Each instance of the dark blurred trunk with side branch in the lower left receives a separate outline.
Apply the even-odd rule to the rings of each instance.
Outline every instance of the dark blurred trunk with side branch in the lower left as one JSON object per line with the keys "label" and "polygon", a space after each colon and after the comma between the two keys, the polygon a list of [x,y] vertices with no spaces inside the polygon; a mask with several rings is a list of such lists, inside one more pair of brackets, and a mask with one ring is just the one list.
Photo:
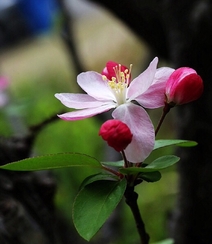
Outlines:
{"label": "dark blurred trunk with side branch in the lower left", "polygon": [[[37,133],[56,119],[31,127],[23,137],[0,137],[0,165],[30,157]],[[55,191],[49,171],[0,170],[0,243],[85,243],[55,209]]]}

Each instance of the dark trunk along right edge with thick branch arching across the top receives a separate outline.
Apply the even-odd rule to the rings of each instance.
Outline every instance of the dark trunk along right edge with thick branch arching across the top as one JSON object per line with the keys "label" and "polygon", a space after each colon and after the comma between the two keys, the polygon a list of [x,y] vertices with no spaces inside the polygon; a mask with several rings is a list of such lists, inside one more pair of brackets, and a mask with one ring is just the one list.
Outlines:
{"label": "dark trunk along right edge with thick branch arching across the top", "polygon": [[178,135],[199,145],[179,154],[179,197],[173,237],[177,244],[212,243],[212,2],[207,0],[93,0],[176,68],[189,66],[204,80],[202,98],[179,106]]}

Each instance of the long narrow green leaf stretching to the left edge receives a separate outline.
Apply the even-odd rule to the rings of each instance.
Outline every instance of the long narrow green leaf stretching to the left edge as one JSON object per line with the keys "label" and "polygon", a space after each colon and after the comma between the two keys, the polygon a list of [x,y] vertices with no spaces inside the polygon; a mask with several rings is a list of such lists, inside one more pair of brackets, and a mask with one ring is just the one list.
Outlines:
{"label": "long narrow green leaf stretching to the left edge", "polygon": [[2,165],[0,166],[0,169],[34,171],[82,166],[102,167],[101,163],[97,159],[85,154],[58,153],[23,159],[17,162]]}

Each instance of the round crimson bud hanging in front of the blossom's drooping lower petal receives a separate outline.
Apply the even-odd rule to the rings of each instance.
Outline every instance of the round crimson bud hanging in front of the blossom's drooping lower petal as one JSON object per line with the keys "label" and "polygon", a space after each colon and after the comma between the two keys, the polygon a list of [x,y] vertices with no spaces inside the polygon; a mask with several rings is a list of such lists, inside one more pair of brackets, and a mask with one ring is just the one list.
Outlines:
{"label": "round crimson bud hanging in front of the blossom's drooping lower petal", "polygon": [[99,135],[118,152],[124,150],[133,137],[129,127],[120,120],[115,119],[107,120],[102,124]]}

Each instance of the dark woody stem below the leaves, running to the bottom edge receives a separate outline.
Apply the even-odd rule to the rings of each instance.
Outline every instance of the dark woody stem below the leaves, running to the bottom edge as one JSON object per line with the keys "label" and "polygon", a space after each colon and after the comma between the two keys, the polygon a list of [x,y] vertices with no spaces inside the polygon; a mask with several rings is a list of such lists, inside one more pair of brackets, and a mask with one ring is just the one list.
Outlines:
{"label": "dark woody stem below the leaves, running to the bottom edge", "polygon": [[136,223],[136,227],[140,236],[140,243],[141,244],[148,244],[149,243],[149,235],[148,233],[146,233],[145,230],[145,225],[144,222],[142,220],[139,208],[138,208],[138,204],[137,204],[137,199],[138,199],[138,194],[134,191],[134,186],[127,186],[126,191],[125,191],[125,201],[127,203],[127,205],[130,207],[134,219],[135,219],[135,223]]}

